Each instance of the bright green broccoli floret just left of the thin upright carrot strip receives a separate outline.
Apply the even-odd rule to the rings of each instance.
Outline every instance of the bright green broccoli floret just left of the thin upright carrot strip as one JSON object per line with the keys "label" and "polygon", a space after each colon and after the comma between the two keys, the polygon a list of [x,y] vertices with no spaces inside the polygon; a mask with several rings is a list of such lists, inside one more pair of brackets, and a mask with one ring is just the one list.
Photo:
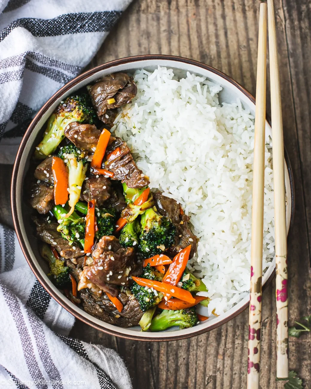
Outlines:
{"label": "bright green broccoli floret just left of the thin upright carrot strip", "polygon": [[80,217],[76,212],[66,218],[65,215],[68,211],[68,206],[62,207],[61,205],[54,205],[51,209],[53,215],[58,220],[57,231],[61,233],[61,236],[69,242],[80,242],[84,245],[85,225],[84,217]]}

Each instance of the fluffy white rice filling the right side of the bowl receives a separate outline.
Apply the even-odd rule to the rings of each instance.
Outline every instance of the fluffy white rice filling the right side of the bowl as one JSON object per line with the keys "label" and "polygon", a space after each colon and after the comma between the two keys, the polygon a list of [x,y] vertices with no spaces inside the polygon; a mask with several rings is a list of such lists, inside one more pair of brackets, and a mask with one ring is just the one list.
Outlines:
{"label": "fluffy white rice filling the right side of the bowl", "polygon": [[[190,216],[200,240],[189,265],[208,288],[209,314],[214,308],[222,314],[249,291],[254,117],[239,101],[220,106],[222,87],[189,72],[178,79],[159,67],[134,78],[137,96],[117,117],[115,133],[128,142],[150,187]],[[270,151],[267,137],[264,271],[274,258]]]}

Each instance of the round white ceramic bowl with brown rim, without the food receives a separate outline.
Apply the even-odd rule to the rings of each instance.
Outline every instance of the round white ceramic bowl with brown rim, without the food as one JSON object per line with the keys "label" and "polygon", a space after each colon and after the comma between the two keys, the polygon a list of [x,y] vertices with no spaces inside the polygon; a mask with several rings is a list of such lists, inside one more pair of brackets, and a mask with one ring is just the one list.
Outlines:
{"label": "round white ceramic bowl with brown rim, without the food", "polygon": [[[218,317],[210,317],[210,319],[207,321],[200,322],[192,328],[182,330],[178,329],[178,327],[174,327],[160,333],[141,332],[139,327],[121,328],[96,319],[69,301],[47,277],[47,264],[45,263],[44,259],[40,257],[38,252],[38,241],[37,238],[35,238],[34,227],[32,226],[30,220],[32,210],[24,203],[23,200],[23,182],[30,165],[31,155],[34,152],[35,146],[38,144],[38,142],[40,142],[40,139],[42,139],[44,124],[61,100],[64,100],[66,96],[72,94],[81,87],[95,82],[104,75],[114,72],[133,73],[136,69],[140,68],[154,70],[158,65],[173,68],[178,75],[185,75],[185,73],[189,71],[197,75],[207,77],[211,81],[214,81],[223,87],[222,91],[219,93],[220,103],[236,102],[237,98],[239,98],[245,108],[250,109],[253,114],[255,112],[255,98],[248,91],[246,91],[236,81],[232,80],[229,76],[208,65],[204,65],[203,63],[186,58],[164,55],[135,56],[105,63],[91,70],[88,70],[87,72],[68,82],[68,84],[59,89],[59,91],[56,92],[39,110],[28,127],[17,152],[13,170],[11,194],[13,219],[19,243],[21,244],[21,248],[29,263],[29,266],[47,292],[51,294],[51,296],[56,301],[58,301],[59,304],[66,308],[66,310],[72,313],[75,317],[93,326],[94,328],[99,329],[100,331],[110,333],[111,335],[122,336],[124,338],[148,341],[176,340],[180,338],[187,338],[216,328],[231,320],[233,317],[242,312],[246,307],[248,307],[248,298],[240,301],[234,307],[225,312],[225,314],[222,314]],[[271,134],[271,126],[268,121],[266,121],[266,132]],[[286,219],[288,231],[294,202],[292,198],[292,175],[287,160],[285,161],[285,164],[285,185],[287,196]],[[269,280],[272,279],[273,274],[274,269],[271,267],[264,274],[262,284],[267,284]],[[204,312],[204,309],[207,308],[200,307],[200,312],[202,314],[207,313]]]}

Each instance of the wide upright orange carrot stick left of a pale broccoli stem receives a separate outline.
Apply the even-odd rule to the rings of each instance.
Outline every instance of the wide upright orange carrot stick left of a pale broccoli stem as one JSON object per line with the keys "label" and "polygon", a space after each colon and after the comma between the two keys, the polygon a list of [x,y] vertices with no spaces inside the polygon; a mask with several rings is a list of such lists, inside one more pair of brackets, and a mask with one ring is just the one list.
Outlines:
{"label": "wide upright orange carrot stick left of a pale broccoli stem", "polygon": [[52,158],[52,172],[54,177],[55,205],[65,204],[68,201],[68,170],[63,159]]}

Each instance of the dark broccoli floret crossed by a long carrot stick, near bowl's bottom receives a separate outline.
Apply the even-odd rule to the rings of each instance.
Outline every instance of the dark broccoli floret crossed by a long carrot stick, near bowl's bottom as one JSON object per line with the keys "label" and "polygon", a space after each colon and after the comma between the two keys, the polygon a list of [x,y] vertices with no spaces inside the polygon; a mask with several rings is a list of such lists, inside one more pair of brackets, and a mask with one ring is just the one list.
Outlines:
{"label": "dark broccoli floret crossed by a long carrot stick, near bowl's bottom", "polygon": [[[143,274],[140,276],[149,280],[161,281],[163,274],[154,270],[149,264],[144,268]],[[157,291],[152,291],[149,288],[138,285],[136,282],[131,286],[131,291],[136,297],[140,309],[146,312],[149,308],[159,304],[163,298],[163,294]]]}

